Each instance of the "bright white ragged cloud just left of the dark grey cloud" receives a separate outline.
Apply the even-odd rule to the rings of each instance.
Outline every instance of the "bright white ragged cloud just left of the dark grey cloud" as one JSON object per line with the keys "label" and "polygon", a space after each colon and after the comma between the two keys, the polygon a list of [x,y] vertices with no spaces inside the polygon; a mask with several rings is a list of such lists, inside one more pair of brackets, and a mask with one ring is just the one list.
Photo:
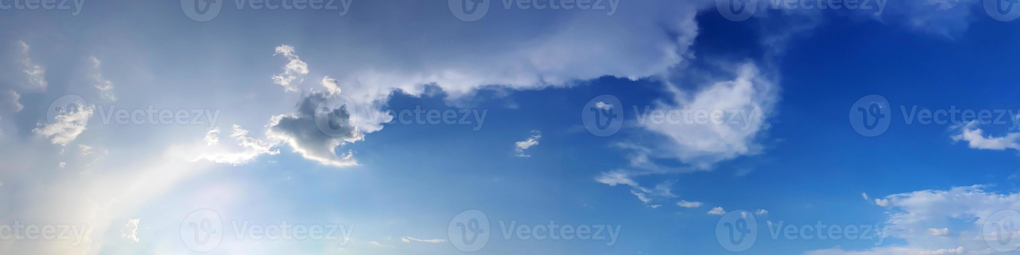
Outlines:
{"label": "bright white ragged cloud just left of the dark grey cloud", "polygon": [[241,125],[235,124],[233,130],[231,138],[237,141],[238,146],[241,146],[241,151],[217,146],[219,141],[219,129],[217,128],[207,132],[203,139],[208,148],[195,146],[196,148],[187,149],[198,154],[197,156],[191,156],[191,161],[208,160],[216,163],[239,165],[247,163],[263,154],[276,155],[279,153],[279,150],[273,150],[273,147],[277,145],[276,143],[251,138],[248,136],[248,131]]}

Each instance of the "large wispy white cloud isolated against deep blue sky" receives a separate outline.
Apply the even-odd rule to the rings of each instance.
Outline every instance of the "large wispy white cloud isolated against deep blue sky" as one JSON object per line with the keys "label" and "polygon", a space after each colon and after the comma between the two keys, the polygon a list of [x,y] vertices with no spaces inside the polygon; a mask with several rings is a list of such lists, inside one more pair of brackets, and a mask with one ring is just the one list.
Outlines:
{"label": "large wispy white cloud isolated against deep blue sky", "polygon": [[[671,102],[656,103],[638,119],[639,126],[663,139],[630,146],[631,162],[654,167],[652,160],[670,158],[709,168],[722,160],[759,153],[758,140],[769,128],[766,120],[774,114],[778,87],[754,63],[733,66],[733,80],[695,91],[671,87]],[[718,117],[712,120],[704,116]]]}

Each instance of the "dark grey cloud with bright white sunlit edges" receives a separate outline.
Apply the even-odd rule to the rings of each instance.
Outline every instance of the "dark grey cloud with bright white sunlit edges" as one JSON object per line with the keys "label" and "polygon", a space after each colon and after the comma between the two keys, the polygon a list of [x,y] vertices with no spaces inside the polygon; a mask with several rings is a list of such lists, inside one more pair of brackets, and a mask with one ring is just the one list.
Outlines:
{"label": "dark grey cloud with bright white sunlit edges", "polygon": [[294,152],[324,165],[357,165],[353,152],[337,155],[337,147],[364,140],[366,133],[377,129],[363,126],[378,123],[359,121],[359,115],[364,113],[353,110],[356,107],[353,104],[336,100],[324,93],[312,93],[298,104],[297,112],[272,116],[266,137],[282,141]]}

